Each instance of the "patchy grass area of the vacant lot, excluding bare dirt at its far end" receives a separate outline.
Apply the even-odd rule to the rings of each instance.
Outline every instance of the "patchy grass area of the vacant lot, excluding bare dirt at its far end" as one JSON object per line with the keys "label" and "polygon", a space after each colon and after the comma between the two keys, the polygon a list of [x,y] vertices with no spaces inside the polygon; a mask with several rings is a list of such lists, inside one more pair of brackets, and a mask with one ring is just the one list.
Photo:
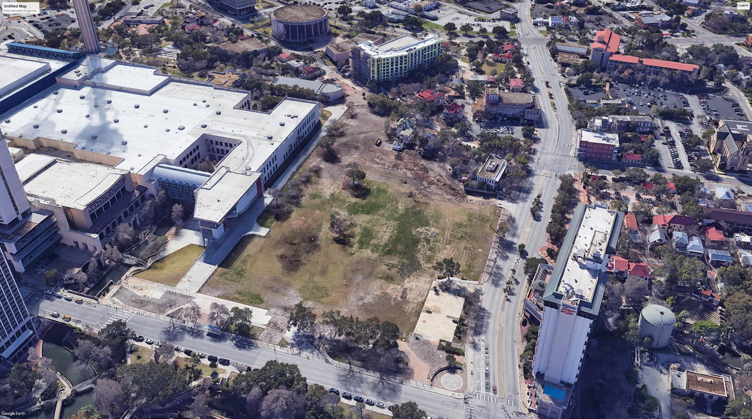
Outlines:
{"label": "patchy grass area of the vacant lot, excluding bare dirt at its far end", "polygon": [[[236,249],[202,292],[250,304],[261,297],[268,308],[287,308],[302,298],[320,310],[375,315],[411,331],[436,275],[431,265],[452,257],[462,264],[462,275],[478,279],[498,213],[480,203],[429,203],[402,185],[367,184],[371,194],[359,199],[341,190],[341,179],[317,179],[289,219]],[[356,223],[349,245],[332,240],[332,212]],[[317,237],[316,243],[302,243],[301,234]],[[302,246],[305,263],[290,267],[288,255]]]}

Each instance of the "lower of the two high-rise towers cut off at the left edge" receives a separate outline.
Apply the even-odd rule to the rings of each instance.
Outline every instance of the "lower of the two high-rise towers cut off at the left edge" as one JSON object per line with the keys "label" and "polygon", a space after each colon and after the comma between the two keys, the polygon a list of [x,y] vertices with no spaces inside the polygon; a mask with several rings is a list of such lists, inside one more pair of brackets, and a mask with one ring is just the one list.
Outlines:
{"label": "lower of the two high-rise towers cut off at the left edge", "polygon": [[4,258],[0,258],[0,370],[26,357],[37,340],[32,316]]}

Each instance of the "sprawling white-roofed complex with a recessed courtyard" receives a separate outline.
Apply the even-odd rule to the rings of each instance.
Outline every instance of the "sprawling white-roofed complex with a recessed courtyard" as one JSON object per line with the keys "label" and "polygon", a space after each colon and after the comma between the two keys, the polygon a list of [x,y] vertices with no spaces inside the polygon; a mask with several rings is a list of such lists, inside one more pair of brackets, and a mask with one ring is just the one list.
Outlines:
{"label": "sprawling white-roofed complex with a recessed courtyard", "polygon": [[[49,57],[56,50],[16,50],[0,50],[0,62],[61,60]],[[59,71],[49,85],[42,83],[49,74],[17,83],[25,100],[0,116],[0,129],[12,146],[35,151],[17,163],[26,192],[33,205],[56,213],[71,246],[101,250],[118,224],[138,222],[139,207],[159,188],[196,203],[208,245],[319,126],[315,101],[285,98],[259,112],[240,89],[96,56],[69,59],[73,65],[53,66]],[[214,173],[194,170],[206,159],[217,161]],[[217,191],[224,191],[221,203]]]}

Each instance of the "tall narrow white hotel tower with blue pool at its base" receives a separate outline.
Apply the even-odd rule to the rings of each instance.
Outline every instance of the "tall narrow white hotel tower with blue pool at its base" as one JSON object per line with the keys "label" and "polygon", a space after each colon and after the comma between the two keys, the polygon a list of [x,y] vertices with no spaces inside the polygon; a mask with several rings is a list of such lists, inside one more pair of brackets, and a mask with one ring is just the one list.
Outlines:
{"label": "tall narrow white hotel tower with blue pool at its base", "polygon": [[580,203],[575,209],[543,295],[544,315],[532,365],[541,417],[560,417],[569,405],[622,221],[622,213],[600,206]]}

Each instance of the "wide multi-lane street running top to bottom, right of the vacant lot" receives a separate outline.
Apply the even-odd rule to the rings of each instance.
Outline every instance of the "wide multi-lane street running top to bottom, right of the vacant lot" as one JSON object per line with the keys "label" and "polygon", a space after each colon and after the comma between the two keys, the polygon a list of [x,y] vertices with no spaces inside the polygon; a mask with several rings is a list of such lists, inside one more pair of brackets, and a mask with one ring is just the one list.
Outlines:
{"label": "wide multi-lane street running top to bottom, right of the vacant lot", "polygon": [[[476,417],[499,417],[502,405],[502,417],[527,413],[522,397],[525,395],[520,387],[517,351],[520,342],[520,305],[525,288],[524,261],[517,258],[517,244],[525,244],[529,257],[535,257],[535,252],[544,246],[545,228],[558,186],[557,178],[571,171],[577,163],[573,157],[574,132],[568,101],[559,85],[556,64],[548,53],[547,38],[532,26],[529,7],[530,0],[520,3],[521,23],[517,25],[517,32],[526,64],[535,77],[533,90],[541,108],[541,122],[538,124],[540,140],[526,191],[519,198],[508,197],[506,206],[512,214],[511,231],[507,234],[507,245],[496,261],[484,294],[482,307],[487,319],[483,322],[484,327],[476,330],[474,348],[476,393],[473,404]],[[550,88],[546,87],[546,82]],[[541,194],[544,205],[541,213],[533,219],[530,207],[537,194]],[[511,295],[505,299],[503,288],[513,269],[516,270],[517,282]],[[492,386],[498,388],[498,399],[491,398],[485,391],[485,348],[489,349],[490,381]]]}

